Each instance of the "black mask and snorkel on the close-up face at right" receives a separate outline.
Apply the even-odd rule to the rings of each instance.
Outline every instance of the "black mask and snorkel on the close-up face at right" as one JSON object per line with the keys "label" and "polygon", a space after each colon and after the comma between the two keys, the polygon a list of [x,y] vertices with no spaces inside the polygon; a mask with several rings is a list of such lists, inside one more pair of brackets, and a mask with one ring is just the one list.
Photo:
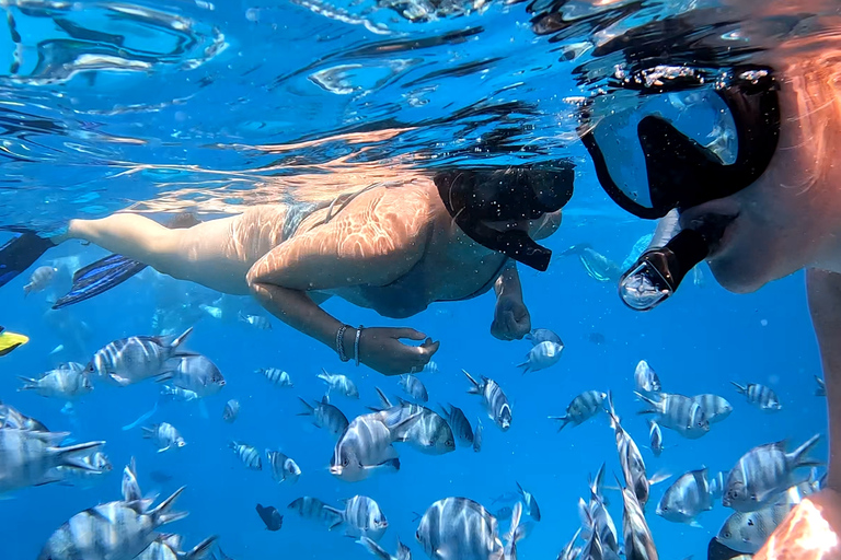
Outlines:
{"label": "black mask and snorkel on the close-up face at right", "polygon": [[[700,88],[703,81],[694,85]],[[713,143],[703,145],[660,114],[648,114],[636,122],[645,161],[642,180],[635,177],[638,167],[611,165],[602,152],[600,143],[625,147],[617,139],[607,143],[612,132],[610,117],[581,135],[599,182],[614,202],[640,218],[663,218],[673,209],[682,212],[731,196],[765,172],[780,139],[780,102],[773,72],[767,67],[737,67],[716,85],[714,93],[731,118],[726,128],[737,142],[731,163],[718,155],[726,149],[718,145],[716,150]],[[686,81],[677,86],[686,88]],[[673,90],[659,82],[648,91],[660,94]],[[701,223],[682,230],[664,247],[645,252],[620,279],[622,301],[633,310],[648,311],[668,299],[683,277],[706,258],[726,225],[721,221]]]}

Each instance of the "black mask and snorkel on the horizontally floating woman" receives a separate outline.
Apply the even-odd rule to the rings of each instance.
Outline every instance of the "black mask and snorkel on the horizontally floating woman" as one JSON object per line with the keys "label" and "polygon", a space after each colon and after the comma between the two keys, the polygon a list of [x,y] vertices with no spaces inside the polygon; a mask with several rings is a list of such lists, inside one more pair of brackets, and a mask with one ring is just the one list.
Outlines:
{"label": "black mask and snorkel on the horizontally floating woman", "polygon": [[538,220],[561,210],[573,195],[574,165],[438,172],[435,184],[443,206],[471,240],[540,271],[552,252],[519,229],[498,231],[486,222]]}

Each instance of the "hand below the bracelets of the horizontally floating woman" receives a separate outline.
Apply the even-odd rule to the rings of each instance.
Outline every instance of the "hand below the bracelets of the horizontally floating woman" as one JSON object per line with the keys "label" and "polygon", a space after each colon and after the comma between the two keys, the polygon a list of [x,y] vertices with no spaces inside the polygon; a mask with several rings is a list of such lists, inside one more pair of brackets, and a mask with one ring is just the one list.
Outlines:
{"label": "hand below the bracelets of the horizontally floating woman", "polygon": [[[404,345],[401,338],[423,340],[420,346]],[[440,342],[433,342],[413,328],[366,328],[359,337],[359,360],[383,375],[419,372],[438,351]]]}

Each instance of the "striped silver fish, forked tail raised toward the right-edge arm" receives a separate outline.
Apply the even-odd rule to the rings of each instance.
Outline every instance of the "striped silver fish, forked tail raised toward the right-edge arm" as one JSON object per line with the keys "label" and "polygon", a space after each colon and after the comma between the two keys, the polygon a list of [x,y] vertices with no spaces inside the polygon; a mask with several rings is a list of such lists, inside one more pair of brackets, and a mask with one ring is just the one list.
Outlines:
{"label": "striped silver fish, forked tail raised toward the right-edge arm", "polygon": [[800,481],[796,469],[820,465],[806,456],[819,439],[817,434],[811,436],[792,453],[785,452],[785,442],[750,450],[727,476],[722,504],[737,512],[752,512],[774,503]]}

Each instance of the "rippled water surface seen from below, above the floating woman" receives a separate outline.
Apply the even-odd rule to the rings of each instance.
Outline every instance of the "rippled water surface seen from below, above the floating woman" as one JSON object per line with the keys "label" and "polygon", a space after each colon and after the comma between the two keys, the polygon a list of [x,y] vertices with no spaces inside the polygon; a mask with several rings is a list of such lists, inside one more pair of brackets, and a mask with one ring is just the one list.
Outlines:
{"label": "rippled water surface seen from below, above the floating woman", "polygon": [[0,225],[229,212],[383,162],[580,158],[594,95],[834,28],[834,2],[736,4],[3,1]]}

